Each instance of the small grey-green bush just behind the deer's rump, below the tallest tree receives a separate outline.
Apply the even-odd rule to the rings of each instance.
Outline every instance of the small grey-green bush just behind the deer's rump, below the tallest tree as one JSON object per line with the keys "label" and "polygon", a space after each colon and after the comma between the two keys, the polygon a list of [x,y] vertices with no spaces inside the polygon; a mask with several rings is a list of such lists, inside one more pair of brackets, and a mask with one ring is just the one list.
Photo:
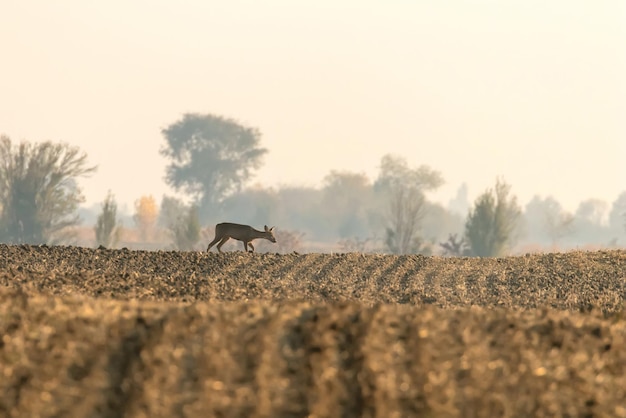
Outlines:
{"label": "small grey-green bush just behind the deer's rump, below the tallest tree", "polygon": [[160,222],[168,229],[174,247],[180,251],[193,250],[201,237],[198,208],[185,205],[176,198],[163,196]]}

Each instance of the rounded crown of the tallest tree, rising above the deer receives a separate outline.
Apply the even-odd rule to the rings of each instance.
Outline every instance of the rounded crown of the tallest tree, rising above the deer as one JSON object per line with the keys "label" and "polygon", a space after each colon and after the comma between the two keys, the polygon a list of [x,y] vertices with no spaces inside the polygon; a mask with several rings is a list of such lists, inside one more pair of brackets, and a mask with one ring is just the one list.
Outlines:
{"label": "rounded crown of the tallest tree, rising above the deer", "polygon": [[267,152],[261,133],[222,116],[187,113],[162,131],[170,159],[165,181],[199,202],[203,215],[240,190]]}

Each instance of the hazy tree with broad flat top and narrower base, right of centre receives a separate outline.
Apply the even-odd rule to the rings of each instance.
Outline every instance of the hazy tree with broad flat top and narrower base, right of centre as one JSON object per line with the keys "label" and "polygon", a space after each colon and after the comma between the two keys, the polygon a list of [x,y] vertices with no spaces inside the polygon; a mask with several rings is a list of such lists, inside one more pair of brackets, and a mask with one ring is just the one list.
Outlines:
{"label": "hazy tree with broad flat top and narrower base, right of centre", "polygon": [[388,202],[385,239],[387,250],[393,254],[429,253],[430,245],[420,237],[420,222],[424,216],[424,193],[444,183],[438,171],[428,166],[409,168],[405,159],[385,155],[374,189]]}

